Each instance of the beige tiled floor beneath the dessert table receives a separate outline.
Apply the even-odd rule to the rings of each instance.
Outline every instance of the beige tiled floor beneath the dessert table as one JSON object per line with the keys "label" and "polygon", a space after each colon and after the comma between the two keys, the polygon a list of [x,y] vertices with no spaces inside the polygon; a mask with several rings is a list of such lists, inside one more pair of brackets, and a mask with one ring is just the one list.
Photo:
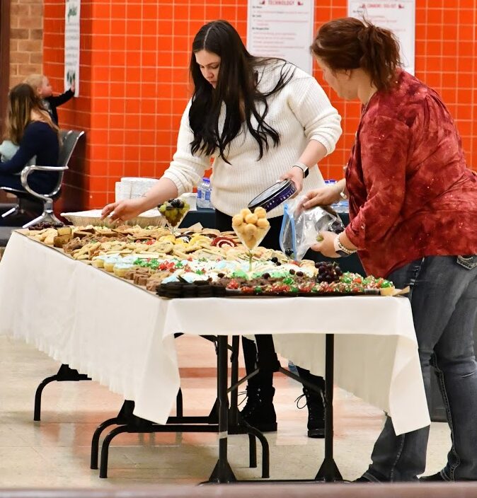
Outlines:
{"label": "beige tiled floor beneath the dessert table", "polygon": [[[178,350],[184,410],[207,415],[214,401],[214,350],[197,337],[181,337]],[[45,388],[42,421],[33,422],[38,383],[59,364],[23,342],[0,337],[0,487],[110,487],[111,485],[198,483],[217,460],[216,434],[124,434],[110,450],[109,478],[89,469],[93,430],[117,415],[120,396],[95,382],[52,383]],[[314,477],[323,440],[306,437],[306,409],[298,410],[299,386],[275,378],[279,430],[269,434],[272,478]],[[345,479],[369,463],[383,414],[358,398],[335,390],[335,460]],[[229,461],[237,477],[256,478],[250,469],[248,438],[230,436]],[[432,424],[427,472],[439,470],[449,448],[447,424]],[[260,453],[258,456],[260,467]]]}

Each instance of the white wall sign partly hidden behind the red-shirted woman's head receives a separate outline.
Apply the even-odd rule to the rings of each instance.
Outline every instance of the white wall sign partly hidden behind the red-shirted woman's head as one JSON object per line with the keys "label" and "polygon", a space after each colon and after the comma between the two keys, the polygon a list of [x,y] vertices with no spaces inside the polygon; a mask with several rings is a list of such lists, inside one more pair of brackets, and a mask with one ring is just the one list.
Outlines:
{"label": "white wall sign partly hidden behind the red-shirted woman's head", "polygon": [[357,1],[348,0],[347,15],[365,19],[386,28],[398,37],[401,62],[410,74],[415,70],[415,0]]}

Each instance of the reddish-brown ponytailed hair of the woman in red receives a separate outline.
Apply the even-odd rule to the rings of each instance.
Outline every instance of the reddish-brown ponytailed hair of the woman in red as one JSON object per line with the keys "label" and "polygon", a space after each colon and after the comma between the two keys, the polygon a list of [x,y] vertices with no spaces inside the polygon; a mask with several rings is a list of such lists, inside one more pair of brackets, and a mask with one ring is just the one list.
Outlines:
{"label": "reddish-brown ponytailed hair of the woman in red", "polygon": [[392,88],[401,66],[399,43],[392,31],[352,17],[323,24],[310,48],[335,71],[364,69],[378,90]]}

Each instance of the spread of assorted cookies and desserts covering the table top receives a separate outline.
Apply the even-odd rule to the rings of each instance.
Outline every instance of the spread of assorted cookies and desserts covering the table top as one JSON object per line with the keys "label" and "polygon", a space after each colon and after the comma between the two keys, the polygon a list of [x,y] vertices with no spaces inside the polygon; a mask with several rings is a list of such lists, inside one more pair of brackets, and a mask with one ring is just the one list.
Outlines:
{"label": "spread of assorted cookies and desserts covering the table top", "polygon": [[[174,204],[168,226],[64,226],[20,230],[74,260],[164,298],[396,296],[406,293],[377,277],[343,272],[336,262],[295,261],[260,245],[265,211],[234,216],[234,231],[177,228],[185,204]],[[167,206],[164,209],[167,213]],[[161,216],[163,218],[163,216]],[[176,223],[177,222],[177,223]]]}

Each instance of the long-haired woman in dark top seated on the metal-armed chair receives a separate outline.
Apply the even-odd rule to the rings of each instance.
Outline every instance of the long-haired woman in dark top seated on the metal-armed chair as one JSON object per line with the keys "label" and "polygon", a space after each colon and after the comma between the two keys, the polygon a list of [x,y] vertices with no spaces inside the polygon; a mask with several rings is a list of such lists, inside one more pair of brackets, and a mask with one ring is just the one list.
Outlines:
{"label": "long-haired woman in dark top seated on the metal-armed chair", "polygon": [[[5,139],[18,145],[18,151],[0,163],[1,187],[24,190],[19,173],[35,156],[41,166],[57,166],[59,129],[27,83],[14,86],[8,94]],[[57,173],[34,171],[28,176],[28,185],[40,194],[51,192],[56,183]]]}

